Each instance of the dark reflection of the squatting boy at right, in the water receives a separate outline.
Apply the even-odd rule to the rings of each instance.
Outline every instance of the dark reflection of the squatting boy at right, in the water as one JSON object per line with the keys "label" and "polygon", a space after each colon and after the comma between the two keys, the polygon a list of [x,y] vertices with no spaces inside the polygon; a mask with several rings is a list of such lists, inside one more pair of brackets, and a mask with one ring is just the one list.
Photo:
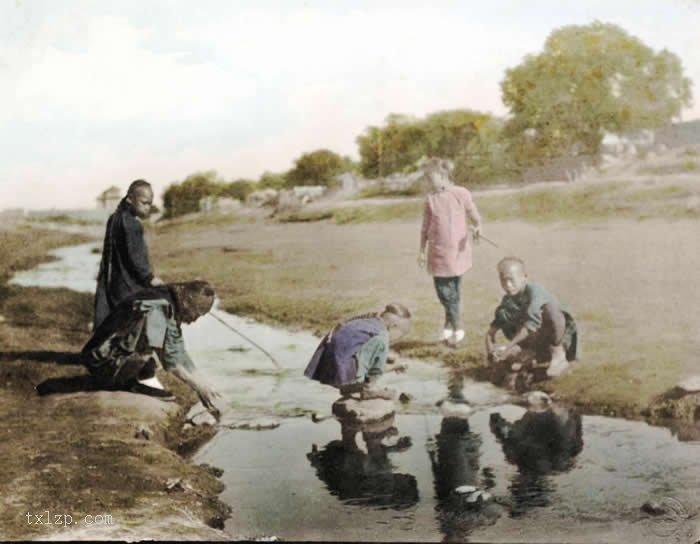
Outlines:
{"label": "dark reflection of the squatting boy at right, in the water", "polygon": [[518,467],[511,482],[514,517],[550,504],[554,485],[549,474],[573,468],[583,448],[581,416],[555,406],[528,410],[515,423],[491,414],[491,432],[501,442],[509,463]]}

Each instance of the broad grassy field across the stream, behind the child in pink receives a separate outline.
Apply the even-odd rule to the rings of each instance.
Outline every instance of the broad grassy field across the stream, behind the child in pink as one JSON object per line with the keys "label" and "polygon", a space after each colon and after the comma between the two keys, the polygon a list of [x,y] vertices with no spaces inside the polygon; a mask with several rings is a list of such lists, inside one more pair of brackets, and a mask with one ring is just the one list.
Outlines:
{"label": "broad grassy field across the stream, behind the child in pink", "polygon": [[[698,221],[686,214],[684,200],[694,190],[682,183],[606,183],[567,185],[555,194],[477,194],[485,233],[500,248],[475,248],[464,281],[467,337],[458,350],[435,343],[442,312],[431,278],[416,265],[420,203],[336,210],[336,223],[158,232],[154,259],[168,279],[212,281],[234,313],[318,332],[388,301],[404,302],[415,322],[397,346],[402,353],[478,373],[483,334],[502,296],[495,264],[518,254],[581,331],[576,369],[544,387],[592,411],[637,414],[680,376],[698,371],[700,300],[685,287],[700,267]],[[372,219],[338,221],[342,213]]]}

